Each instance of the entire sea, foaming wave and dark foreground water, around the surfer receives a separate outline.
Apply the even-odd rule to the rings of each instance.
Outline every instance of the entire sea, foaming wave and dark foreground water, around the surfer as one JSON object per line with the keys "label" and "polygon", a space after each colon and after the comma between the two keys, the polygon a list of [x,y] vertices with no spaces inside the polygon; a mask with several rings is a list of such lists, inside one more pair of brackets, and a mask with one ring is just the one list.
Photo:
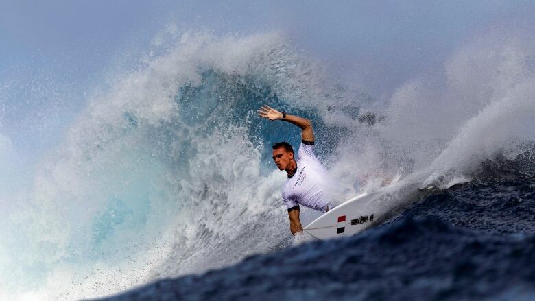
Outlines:
{"label": "entire sea, foaming wave and dark foreground water, around the surfer", "polygon": [[[385,96],[277,33],[185,34],[89,96],[3,191],[0,299],[533,300],[532,45],[471,40]],[[292,237],[270,157],[300,132],[263,104],[313,121],[336,203],[399,185],[389,218]]]}

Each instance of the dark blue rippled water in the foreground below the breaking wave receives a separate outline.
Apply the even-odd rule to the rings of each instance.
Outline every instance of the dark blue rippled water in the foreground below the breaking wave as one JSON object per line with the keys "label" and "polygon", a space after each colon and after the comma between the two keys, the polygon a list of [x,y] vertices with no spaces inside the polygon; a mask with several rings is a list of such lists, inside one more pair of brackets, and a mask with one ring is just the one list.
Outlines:
{"label": "dark blue rippled water in the foreground below the breaking wave", "polygon": [[105,300],[535,300],[534,153],[480,165],[354,237]]}

